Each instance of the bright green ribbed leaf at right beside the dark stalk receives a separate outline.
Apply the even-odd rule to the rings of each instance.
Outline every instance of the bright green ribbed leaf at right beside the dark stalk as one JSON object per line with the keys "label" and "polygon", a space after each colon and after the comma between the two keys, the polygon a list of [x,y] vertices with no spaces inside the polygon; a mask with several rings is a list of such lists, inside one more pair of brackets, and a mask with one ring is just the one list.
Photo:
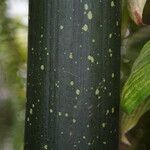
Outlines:
{"label": "bright green ribbed leaf at right beside the dark stalk", "polygon": [[131,113],[150,96],[150,41],[143,47],[124,85],[121,106]]}

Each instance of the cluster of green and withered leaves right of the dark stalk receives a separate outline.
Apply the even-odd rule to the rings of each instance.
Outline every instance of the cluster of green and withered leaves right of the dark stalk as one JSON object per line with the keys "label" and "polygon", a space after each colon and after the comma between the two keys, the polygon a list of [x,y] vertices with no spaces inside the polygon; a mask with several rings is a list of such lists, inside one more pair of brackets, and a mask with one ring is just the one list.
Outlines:
{"label": "cluster of green and withered leaves right of the dark stalk", "polygon": [[[137,150],[144,145],[145,150],[148,150],[149,142],[146,140],[148,137],[144,137],[144,135],[146,136],[149,130],[143,126],[150,122],[147,118],[148,115],[145,115],[149,114],[150,110],[150,42],[148,42],[150,40],[150,26],[142,26],[142,24],[149,23],[150,2],[123,0],[123,4],[121,141],[130,145],[126,149]],[[127,13],[125,15],[127,8],[130,15],[127,15]],[[135,15],[135,10],[138,15]],[[145,43],[147,44],[145,45]],[[142,119],[144,119],[144,122]],[[136,130],[136,132],[132,133],[133,130]],[[142,143],[139,141],[142,141]]]}

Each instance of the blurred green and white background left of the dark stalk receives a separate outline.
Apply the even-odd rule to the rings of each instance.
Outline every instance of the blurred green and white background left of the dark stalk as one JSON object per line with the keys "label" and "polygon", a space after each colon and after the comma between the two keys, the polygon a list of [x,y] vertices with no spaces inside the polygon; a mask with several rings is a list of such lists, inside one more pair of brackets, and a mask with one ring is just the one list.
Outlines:
{"label": "blurred green and white background left of the dark stalk", "polygon": [[21,150],[25,110],[27,1],[0,0],[0,150]]}

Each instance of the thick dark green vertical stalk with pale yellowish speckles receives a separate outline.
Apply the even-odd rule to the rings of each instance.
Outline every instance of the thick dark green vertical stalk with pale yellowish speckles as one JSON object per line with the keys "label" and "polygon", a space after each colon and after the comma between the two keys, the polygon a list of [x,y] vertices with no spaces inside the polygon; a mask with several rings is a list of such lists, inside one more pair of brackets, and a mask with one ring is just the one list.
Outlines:
{"label": "thick dark green vertical stalk with pale yellowish speckles", "polygon": [[25,150],[117,150],[119,0],[30,0]]}

